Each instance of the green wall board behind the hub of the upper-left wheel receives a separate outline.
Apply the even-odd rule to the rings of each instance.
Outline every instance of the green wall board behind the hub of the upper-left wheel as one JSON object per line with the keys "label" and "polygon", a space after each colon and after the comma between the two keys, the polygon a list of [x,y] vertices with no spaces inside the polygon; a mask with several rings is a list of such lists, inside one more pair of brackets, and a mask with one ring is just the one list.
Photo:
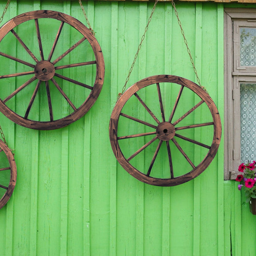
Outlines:
{"label": "green wall board behind the hub of the upper-left wheel", "polygon": [[[40,9],[47,10],[59,10],[63,12],[63,2],[49,2],[40,1]],[[29,5],[29,2],[28,2]],[[52,48],[55,33],[51,30],[47,30],[47,22],[52,23],[53,27],[58,30],[56,26],[56,20],[43,20],[38,19],[43,52],[46,57],[50,49]],[[48,23],[48,24],[49,24]],[[55,24],[55,25],[54,25]],[[35,38],[36,40],[37,38]],[[58,43],[61,42],[59,40]],[[68,42],[67,42],[68,44]],[[63,44],[57,44],[62,50]],[[36,48],[37,47],[37,48]],[[35,49],[38,50],[38,43],[35,44]],[[38,52],[37,52],[38,55]],[[44,85],[44,84],[43,84]],[[53,112],[59,114],[66,113],[63,102],[65,100],[58,98],[56,93],[52,92],[51,82],[49,83],[51,99],[53,103]],[[42,92],[45,93],[45,85],[42,87]],[[65,90],[65,89],[64,89]],[[44,94],[46,95],[46,94]],[[43,108],[43,104],[48,107],[47,98],[42,97],[39,101],[39,118],[49,118],[48,108]],[[55,104],[55,105],[54,105]],[[45,116],[44,116],[45,113]],[[54,115],[54,114],[53,114]],[[56,117],[56,116],[55,116]],[[49,119],[48,119],[49,120]],[[49,130],[39,132],[39,171],[38,171],[38,212],[37,212],[37,254],[38,255],[60,255],[60,252],[64,250],[66,244],[63,247],[63,240],[65,240],[65,233],[63,227],[65,223],[65,183],[66,183],[66,155],[63,154],[64,146],[66,142],[64,130]],[[62,144],[63,138],[63,144]],[[67,149],[65,149],[67,150]],[[65,176],[63,176],[65,175]],[[66,229],[66,227],[64,228]],[[62,235],[64,235],[62,237]],[[61,246],[62,244],[62,246]],[[64,248],[64,249],[63,249]]]}

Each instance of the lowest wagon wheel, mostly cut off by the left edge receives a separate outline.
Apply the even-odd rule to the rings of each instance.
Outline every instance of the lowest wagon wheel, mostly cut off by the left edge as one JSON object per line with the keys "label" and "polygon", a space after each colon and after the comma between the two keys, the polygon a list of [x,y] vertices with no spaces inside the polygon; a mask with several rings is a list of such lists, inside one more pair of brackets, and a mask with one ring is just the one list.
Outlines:
{"label": "lowest wagon wheel, mostly cut off by the left edge", "polygon": [[12,192],[14,191],[17,178],[17,168],[14,157],[11,150],[2,140],[0,140],[0,158],[0,195],[2,196],[3,194],[2,198],[0,199],[1,209],[10,199]]}

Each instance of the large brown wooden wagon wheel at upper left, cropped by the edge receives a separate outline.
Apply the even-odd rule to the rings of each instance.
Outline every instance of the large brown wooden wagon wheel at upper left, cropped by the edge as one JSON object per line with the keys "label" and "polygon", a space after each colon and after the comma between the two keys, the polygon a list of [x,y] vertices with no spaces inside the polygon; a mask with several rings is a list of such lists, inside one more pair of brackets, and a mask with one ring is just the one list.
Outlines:
{"label": "large brown wooden wagon wheel at upper left, cropped by the edge", "polygon": [[[47,55],[47,58],[45,59],[45,54],[43,52],[43,45],[41,40],[41,33],[39,30],[38,20],[40,18],[51,18],[55,20],[60,21],[59,29],[57,32],[57,35],[55,37],[52,49],[50,50],[49,55]],[[38,53],[40,53],[40,58],[36,58],[34,53],[31,52],[31,50],[26,46],[26,44],[22,41],[21,37],[18,35],[16,30],[16,26],[20,25],[23,22],[27,22],[29,20],[34,20],[34,27],[36,31],[36,35],[38,38]],[[68,24],[71,27],[75,28],[77,31],[81,33],[81,39],[76,42],[73,46],[71,46],[68,50],[66,50],[63,54],[61,54],[57,59],[52,60],[53,53],[55,50],[55,47],[57,46],[58,39],[60,37],[61,31],[63,26]],[[14,30],[15,28],[15,30]],[[47,28],[49,30],[50,27]],[[17,30],[16,30],[17,31]],[[101,48],[94,37],[94,35],[91,33],[91,31],[80,21],[76,20],[75,18],[63,14],[61,12],[57,11],[48,11],[48,10],[39,10],[39,11],[31,11],[27,12],[25,14],[21,14],[16,16],[15,18],[12,18],[10,21],[5,23],[0,28],[0,42],[2,39],[6,36],[6,34],[10,32],[12,33],[18,42],[22,45],[22,47],[27,51],[27,53],[31,57],[31,62],[26,62],[24,60],[21,60],[19,58],[13,57],[12,55],[0,52],[0,55],[9,58],[10,60],[14,60],[17,63],[22,63],[27,66],[27,71],[21,72],[21,73],[15,73],[15,74],[4,74],[0,76],[0,79],[3,79],[2,82],[6,81],[8,78],[16,77],[16,76],[25,76],[30,75],[30,79],[28,79],[25,83],[18,85],[17,89],[14,90],[9,96],[5,98],[1,98],[0,100],[0,111],[9,119],[11,119],[13,122],[20,124],[21,126],[32,128],[32,129],[39,129],[39,130],[51,130],[51,129],[57,129],[62,128],[64,126],[67,126],[70,123],[73,123],[74,121],[78,120],[84,114],[89,111],[91,106],[95,103],[98,95],[100,94],[100,91],[102,89],[103,85],[103,79],[104,79],[104,72],[105,72],[105,66],[104,66],[104,60]],[[15,39],[15,40],[16,40]],[[74,50],[76,47],[78,47],[82,42],[88,41],[90,44],[90,47],[93,50],[95,60],[90,59],[86,62],[82,63],[74,63],[74,64],[67,64],[67,65],[59,65],[59,61],[62,60],[67,54],[69,54],[72,50]],[[11,43],[11,42],[10,42]],[[82,48],[81,52],[85,51],[86,49]],[[66,69],[66,68],[74,68],[79,66],[85,66],[85,65],[96,65],[96,78],[94,85],[87,85],[83,82],[76,81],[74,79],[68,78],[66,76],[63,76],[59,74],[58,71]],[[70,100],[70,98],[66,95],[64,90],[61,88],[61,86],[56,81],[56,77],[58,79],[61,79],[62,81],[68,81],[71,85],[78,85],[84,88],[84,90],[89,90],[89,96],[85,98],[85,101],[80,106],[75,106],[74,103]],[[37,81],[37,82],[34,82]],[[51,81],[51,82],[50,82]],[[23,116],[20,114],[17,114],[15,110],[10,109],[6,103],[14,96],[17,96],[21,90],[23,90],[28,85],[31,85],[33,82],[34,89],[33,94],[27,95],[27,97],[31,100],[26,106],[26,110],[24,110]],[[59,91],[58,93],[62,95],[62,97],[65,98],[65,100],[68,102],[70,109],[72,113],[70,113],[68,116],[54,119],[53,115],[53,106],[52,106],[52,98],[49,90],[49,84],[55,86],[55,89]],[[39,87],[45,84],[45,97],[48,100],[48,108],[49,108],[49,117],[48,121],[40,121],[40,120],[30,120],[28,119],[28,115],[30,113],[32,104],[36,98],[36,95],[38,94]],[[54,89],[54,90],[55,90]],[[46,100],[46,101],[47,101]]]}

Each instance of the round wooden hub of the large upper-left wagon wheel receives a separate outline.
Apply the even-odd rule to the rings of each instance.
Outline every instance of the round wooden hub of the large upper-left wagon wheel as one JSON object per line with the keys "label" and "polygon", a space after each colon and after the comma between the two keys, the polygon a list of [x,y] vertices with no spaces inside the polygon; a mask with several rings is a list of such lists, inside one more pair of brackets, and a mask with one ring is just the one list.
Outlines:
{"label": "round wooden hub of the large upper-left wagon wheel", "polygon": [[34,68],[36,78],[41,81],[48,81],[53,78],[55,74],[54,65],[47,60],[41,60]]}

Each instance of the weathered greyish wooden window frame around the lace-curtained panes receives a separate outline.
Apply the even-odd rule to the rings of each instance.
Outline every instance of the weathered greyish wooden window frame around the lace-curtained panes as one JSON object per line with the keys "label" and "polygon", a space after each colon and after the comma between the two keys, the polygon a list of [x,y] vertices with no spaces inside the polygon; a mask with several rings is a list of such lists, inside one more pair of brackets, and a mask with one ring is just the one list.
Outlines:
{"label": "weathered greyish wooden window frame around the lace-curtained panes", "polygon": [[240,82],[256,83],[256,67],[240,66],[240,26],[256,27],[256,8],[224,9],[224,180],[234,180],[240,164]]}

